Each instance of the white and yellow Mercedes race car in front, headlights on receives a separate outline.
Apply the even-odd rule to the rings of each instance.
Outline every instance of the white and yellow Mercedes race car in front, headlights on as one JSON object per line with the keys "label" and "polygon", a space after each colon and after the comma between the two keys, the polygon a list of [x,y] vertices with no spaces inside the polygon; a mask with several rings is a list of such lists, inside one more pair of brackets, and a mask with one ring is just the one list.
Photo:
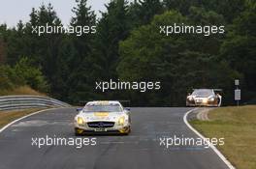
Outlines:
{"label": "white and yellow Mercedes race car in front, headlights on", "polygon": [[90,101],[75,117],[75,134],[120,133],[129,134],[131,117],[129,109],[119,101]]}

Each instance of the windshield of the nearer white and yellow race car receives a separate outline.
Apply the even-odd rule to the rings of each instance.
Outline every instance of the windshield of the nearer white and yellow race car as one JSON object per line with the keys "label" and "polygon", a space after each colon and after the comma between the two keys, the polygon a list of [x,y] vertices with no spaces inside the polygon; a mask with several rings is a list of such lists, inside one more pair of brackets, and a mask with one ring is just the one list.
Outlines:
{"label": "windshield of the nearer white and yellow race car", "polygon": [[86,105],[83,112],[121,112],[120,105]]}

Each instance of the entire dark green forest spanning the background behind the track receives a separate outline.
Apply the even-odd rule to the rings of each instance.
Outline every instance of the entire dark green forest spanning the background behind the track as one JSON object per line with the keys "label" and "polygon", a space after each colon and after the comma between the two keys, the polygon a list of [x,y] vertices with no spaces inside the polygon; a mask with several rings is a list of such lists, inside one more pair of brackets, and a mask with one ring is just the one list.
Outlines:
{"label": "entire dark green forest spanning the background behind the track", "polygon": [[[0,90],[29,85],[78,104],[129,99],[132,105],[182,106],[193,88],[220,88],[234,103],[256,103],[256,2],[253,0],[112,0],[101,17],[76,0],[70,25],[96,25],[96,34],[32,34],[36,25],[62,25],[52,5],[32,9],[14,28],[0,23]],[[163,36],[159,24],[224,25],[225,34]],[[95,81],[160,81],[161,90],[95,90]]]}

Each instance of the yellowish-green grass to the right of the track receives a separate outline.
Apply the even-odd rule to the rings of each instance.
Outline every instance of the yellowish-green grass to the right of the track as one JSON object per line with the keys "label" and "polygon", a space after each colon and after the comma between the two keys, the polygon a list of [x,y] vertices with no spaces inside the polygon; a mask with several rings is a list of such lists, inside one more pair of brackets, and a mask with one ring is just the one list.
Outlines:
{"label": "yellowish-green grass to the right of the track", "polygon": [[256,168],[256,106],[221,107],[208,113],[209,122],[191,121],[206,137],[225,138],[218,149],[238,169]]}

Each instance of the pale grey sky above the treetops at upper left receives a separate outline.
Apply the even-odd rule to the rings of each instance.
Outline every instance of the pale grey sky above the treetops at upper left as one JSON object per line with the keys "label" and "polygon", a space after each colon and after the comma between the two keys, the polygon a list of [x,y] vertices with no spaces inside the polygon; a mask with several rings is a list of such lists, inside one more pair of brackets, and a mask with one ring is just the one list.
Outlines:
{"label": "pale grey sky above the treetops at upper left", "polygon": [[[104,4],[109,2],[110,0],[87,1],[97,16],[101,16],[99,11],[106,11]],[[18,20],[28,21],[32,8],[38,9],[42,3],[51,3],[64,25],[70,22],[73,15],[71,10],[76,6],[76,0],[0,0],[0,24],[6,23],[8,27],[13,27]]]}

